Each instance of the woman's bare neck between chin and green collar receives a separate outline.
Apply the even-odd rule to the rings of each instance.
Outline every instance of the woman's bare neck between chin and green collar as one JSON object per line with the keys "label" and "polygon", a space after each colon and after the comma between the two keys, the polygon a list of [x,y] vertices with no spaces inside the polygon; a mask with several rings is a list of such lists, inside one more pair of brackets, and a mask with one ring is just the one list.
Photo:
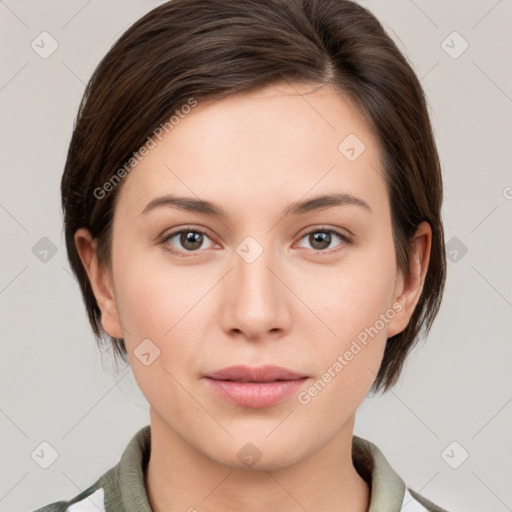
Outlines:
{"label": "woman's bare neck between chin and green collar", "polygon": [[352,463],[354,419],[316,452],[271,471],[228,467],[197,451],[151,409],[145,485],[154,512],[367,512],[370,489]]}

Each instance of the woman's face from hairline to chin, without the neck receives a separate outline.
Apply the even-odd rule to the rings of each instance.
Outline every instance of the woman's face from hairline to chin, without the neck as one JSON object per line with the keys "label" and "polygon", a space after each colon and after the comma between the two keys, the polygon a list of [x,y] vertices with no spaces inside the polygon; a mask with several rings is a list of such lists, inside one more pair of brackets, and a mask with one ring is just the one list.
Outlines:
{"label": "woman's face from hairline to chin, without the neck", "polygon": [[[157,139],[120,189],[102,306],[153,428],[263,468],[351,432],[409,319],[383,175],[365,120],[330,87],[199,103]],[[214,375],[238,365],[293,375]]]}

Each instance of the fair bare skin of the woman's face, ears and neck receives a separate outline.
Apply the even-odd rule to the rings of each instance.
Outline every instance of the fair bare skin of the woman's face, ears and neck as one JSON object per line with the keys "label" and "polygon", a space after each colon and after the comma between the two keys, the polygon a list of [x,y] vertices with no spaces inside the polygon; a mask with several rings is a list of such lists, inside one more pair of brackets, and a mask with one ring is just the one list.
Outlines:
{"label": "fair bare skin of the woman's face, ears and neck", "polygon": [[[338,150],[349,134],[366,146],[354,161]],[[398,271],[383,173],[377,140],[345,96],[273,85],[199,103],[131,171],[114,214],[112,272],[98,265],[89,232],[77,231],[103,327],[124,338],[150,405],[145,483],[155,512],[368,510],[352,463],[355,414],[387,338],[410,320],[431,244],[422,223],[411,272]],[[342,204],[284,215],[292,202],[337,192],[371,211]],[[166,194],[208,200],[227,217],[170,206],[141,213]],[[180,228],[207,234],[169,237]],[[309,235],[327,228],[352,241]],[[246,237],[262,249],[251,263],[237,252]],[[307,404],[294,393],[274,406],[236,405],[204,378],[274,364],[305,374],[307,391],[393,304],[400,311]],[[147,366],[134,354],[145,339],[160,350]],[[262,454],[250,468],[237,456],[249,442]]]}

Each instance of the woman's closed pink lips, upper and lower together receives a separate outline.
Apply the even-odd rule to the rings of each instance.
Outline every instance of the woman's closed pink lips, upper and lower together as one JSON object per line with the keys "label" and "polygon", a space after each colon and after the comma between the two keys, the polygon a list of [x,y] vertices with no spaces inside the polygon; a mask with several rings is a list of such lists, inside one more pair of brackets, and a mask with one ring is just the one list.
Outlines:
{"label": "woman's closed pink lips, upper and lower together", "polygon": [[308,378],[279,366],[230,366],[205,375],[228,402],[251,408],[270,407],[298,391]]}

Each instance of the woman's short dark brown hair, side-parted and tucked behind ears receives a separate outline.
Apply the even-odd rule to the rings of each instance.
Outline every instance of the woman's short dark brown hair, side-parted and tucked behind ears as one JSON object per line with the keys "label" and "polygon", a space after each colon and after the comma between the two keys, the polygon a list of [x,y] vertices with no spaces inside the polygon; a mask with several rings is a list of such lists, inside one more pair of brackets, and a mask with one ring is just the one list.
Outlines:
{"label": "woman's short dark brown hair, side-parted and tucked behind ears", "polygon": [[[132,25],[87,84],[61,183],[65,239],[97,341],[101,312],[74,242],[77,229],[98,240],[111,268],[112,219],[119,186],[103,187],[154,130],[190,98],[220,99],[273,83],[330,84],[348,94],[377,134],[400,271],[410,240],[432,228],[429,268],[409,324],[387,341],[372,390],[389,389],[440,307],[446,276],[442,176],[421,85],[368,10],[348,0],[172,0]],[[123,339],[108,337],[126,362]]]}

